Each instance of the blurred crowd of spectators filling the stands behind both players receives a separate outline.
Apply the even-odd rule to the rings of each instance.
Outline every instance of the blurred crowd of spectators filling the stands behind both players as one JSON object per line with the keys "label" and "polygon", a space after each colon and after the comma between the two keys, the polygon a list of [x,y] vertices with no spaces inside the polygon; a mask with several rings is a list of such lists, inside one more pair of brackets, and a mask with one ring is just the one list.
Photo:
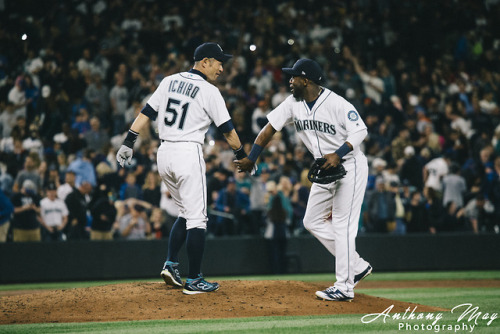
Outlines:
{"label": "blurred crowd of spectators filling the stands behind both players", "polygon": [[[168,237],[177,208],[156,173],[154,122],[131,165],[115,154],[206,41],[234,55],[215,84],[247,152],[299,58],[357,108],[370,164],[360,233],[499,233],[498,17],[498,0],[2,3],[0,242]],[[274,196],[287,232],[308,233],[312,157],[293,125],[255,177],[215,127],[204,152],[209,236],[265,236]]]}

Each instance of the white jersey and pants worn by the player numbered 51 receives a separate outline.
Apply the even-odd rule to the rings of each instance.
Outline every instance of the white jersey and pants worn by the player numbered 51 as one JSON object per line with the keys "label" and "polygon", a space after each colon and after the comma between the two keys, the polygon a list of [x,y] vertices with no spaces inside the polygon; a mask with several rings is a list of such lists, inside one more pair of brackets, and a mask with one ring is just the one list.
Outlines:
{"label": "white jersey and pants worn by the player numbered 51", "polygon": [[207,226],[206,166],[201,145],[212,122],[217,127],[231,118],[219,89],[193,72],[162,80],[148,101],[158,113],[162,144],[158,173],[186,219],[186,228]]}

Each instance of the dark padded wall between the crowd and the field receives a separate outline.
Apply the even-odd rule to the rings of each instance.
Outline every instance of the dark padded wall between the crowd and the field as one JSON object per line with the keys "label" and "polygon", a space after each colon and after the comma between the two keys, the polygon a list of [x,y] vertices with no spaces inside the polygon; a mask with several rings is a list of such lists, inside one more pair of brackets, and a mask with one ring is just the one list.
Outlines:
{"label": "dark padded wall between the crowd and the field", "polygon": [[[261,237],[207,239],[206,276],[270,274],[268,240]],[[500,235],[366,235],[358,253],[375,272],[498,270]],[[0,283],[158,278],[167,240],[67,241],[0,244]],[[180,269],[187,273],[185,249]],[[312,236],[288,240],[290,273],[334,272],[335,262]]]}

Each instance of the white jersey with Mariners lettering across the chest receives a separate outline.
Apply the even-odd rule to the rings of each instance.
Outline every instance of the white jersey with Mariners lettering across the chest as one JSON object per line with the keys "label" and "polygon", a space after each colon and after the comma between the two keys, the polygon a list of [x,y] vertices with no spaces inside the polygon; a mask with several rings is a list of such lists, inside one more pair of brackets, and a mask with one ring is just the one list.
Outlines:
{"label": "white jersey with Mariners lettering across the chest", "polygon": [[[293,123],[299,138],[314,158],[335,152],[351,133],[366,129],[354,106],[343,97],[324,88],[312,110],[305,101],[297,101],[293,95],[267,115],[269,123],[277,131]],[[354,147],[344,159],[359,153]]]}

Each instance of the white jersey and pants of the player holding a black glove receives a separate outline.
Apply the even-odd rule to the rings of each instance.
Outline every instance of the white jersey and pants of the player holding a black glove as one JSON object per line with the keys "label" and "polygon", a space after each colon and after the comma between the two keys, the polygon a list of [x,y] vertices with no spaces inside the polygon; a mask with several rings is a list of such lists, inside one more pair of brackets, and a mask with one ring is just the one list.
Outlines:
{"label": "white jersey and pants of the player holding a black glove", "polygon": [[[366,129],[354,106],[326,88],[312,109],[305,101],[290,96],[267,118],[277,131],[293,123],[315,158],[334,153],[351,135]],[[304,227],[335,256],[335,287],[346,296],[354,297],[354,276],[369,265],[356,252],[355,243],[368,163],[359,145],[354,145],[343,158],[346,176],[330,184],[312,185],[303,221]]]}

